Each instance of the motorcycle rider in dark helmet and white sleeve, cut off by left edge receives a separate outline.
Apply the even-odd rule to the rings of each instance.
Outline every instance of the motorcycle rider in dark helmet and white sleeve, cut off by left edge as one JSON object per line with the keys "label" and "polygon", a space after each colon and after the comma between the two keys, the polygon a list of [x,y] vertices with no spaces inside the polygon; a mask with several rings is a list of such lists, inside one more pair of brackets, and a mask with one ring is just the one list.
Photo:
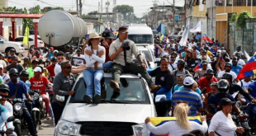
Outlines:
{"label": "motorcycle rider in dark helmet and white sleeve, cut off by left edge", "polygon": [[[0,84],[0,105],[5,106],[9,111],[10,115],[13,115],[12,104],[9,101],[7,101],[9,93],[10,93],[9,86],[7,84]],[[2,129],[2,126],[0,127],[1,127],[0,129]],[[7,123],[7,128],[14,129],[12,122]],[[7,133],[7,136],[17,136],[15,132],[10,132],[8,130],[6,133]]]}

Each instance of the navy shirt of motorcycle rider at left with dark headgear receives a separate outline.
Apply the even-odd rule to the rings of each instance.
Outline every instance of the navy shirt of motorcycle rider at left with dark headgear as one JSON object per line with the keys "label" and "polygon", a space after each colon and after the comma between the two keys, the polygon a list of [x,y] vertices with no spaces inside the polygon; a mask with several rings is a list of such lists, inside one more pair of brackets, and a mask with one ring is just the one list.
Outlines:
{"label": "navy shirt of motorcycle rider at left with dark headgear", "polygon": [[[10,87],[10,95],[9,97],[12,97],[15,94],[17,82],[12,83],[11,81],[7,82],[7,85]],[[23,99],[23,94],[26,94],[28,91],[26,90],[26,84],[24,82],[19,81],[18,85],[18,91],[16,98]]]}

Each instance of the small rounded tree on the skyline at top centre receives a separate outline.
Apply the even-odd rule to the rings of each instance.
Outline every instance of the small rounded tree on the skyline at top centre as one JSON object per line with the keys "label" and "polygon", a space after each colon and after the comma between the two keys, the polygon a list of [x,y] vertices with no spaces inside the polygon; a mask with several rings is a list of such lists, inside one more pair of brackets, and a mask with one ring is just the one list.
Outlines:
{"label": "small rounded tree on the skyline at top centre", "polygon": [[129,16],[134,12],[133,7],[129,5],[117,5],[113,8],[113,12],[120,12],[124,16],[124,20],[126,20],[126,14]]}

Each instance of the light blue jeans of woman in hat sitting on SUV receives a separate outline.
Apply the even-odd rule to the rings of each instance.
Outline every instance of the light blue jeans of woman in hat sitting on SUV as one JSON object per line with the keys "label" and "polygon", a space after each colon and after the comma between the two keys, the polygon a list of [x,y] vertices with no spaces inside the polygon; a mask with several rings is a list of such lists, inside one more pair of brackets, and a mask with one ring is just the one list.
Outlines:
{"label": "light blue jeans of woman in hat sitting on SUV", "polygon": [[104,75],[102,69],[85,69],[83,71],[83,79],[86,83],[86,95],[92,98],[92,88],[94,84],[94,96],[101,95],[101,80]]}

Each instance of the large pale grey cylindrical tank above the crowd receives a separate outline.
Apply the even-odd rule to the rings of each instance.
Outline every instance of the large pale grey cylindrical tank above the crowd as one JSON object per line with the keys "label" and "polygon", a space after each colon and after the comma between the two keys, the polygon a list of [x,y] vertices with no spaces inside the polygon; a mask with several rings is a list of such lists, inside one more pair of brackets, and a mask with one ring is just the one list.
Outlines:
{"label": "large pale grey cylindrical tank above the crowd", "polygon": [[58,50],[64,50],[64,45],[79,45],[92,30],[92,23],[58,10],[46,12],[38,22],[41,40]]}

